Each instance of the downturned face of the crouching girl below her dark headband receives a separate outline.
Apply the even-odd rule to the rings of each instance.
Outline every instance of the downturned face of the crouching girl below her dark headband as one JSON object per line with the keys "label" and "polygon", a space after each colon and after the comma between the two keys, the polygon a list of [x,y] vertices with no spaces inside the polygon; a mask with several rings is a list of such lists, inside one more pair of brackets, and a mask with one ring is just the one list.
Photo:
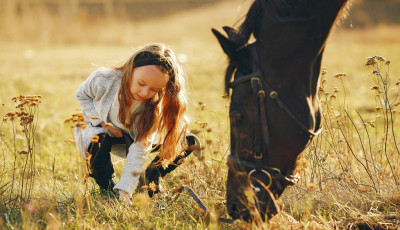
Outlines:
{"label": "downturned face of the crouching girl below her dark headband", "polygon": [[136,67],[132,71],[131,94],[137,101],[153,98],[165,89],[169,76],[156,65]]}

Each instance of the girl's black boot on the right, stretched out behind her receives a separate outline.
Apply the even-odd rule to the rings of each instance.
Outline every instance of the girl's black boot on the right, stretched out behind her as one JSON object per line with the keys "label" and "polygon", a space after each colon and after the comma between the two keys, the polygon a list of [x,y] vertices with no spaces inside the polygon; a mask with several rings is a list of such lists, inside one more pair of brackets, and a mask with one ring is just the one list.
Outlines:
{"label": "girl's black boot on the right, stretched out behind her", "polygon": [[160,178],[164,177],[165,175],[176,169],[179,165],[181,165],[184,159],[189,156],[194,150],[201,151],[200,141],[195,135],[188,134],[186,136],[186,141],[188,145],[187,150],[185,150],[184,154],[177,156],[173,163],[169,164],[166,169],[164,169],[160,164],[156,164],[160,160],[160,157],[156,156],[147,167],[144,176],[143,174],[140,176],[139,188],[141,188],[143,185],[149,185],[152,183],[156,185],[155,188],[148,188],[148,194],[150,197],[153,197],[155,194],[160,193]]}

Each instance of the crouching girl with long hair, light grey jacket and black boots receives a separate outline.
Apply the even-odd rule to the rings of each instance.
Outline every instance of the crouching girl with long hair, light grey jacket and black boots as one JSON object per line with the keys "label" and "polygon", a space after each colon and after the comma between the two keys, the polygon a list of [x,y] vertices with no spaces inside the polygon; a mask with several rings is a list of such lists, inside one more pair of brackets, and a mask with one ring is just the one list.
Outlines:
{"label": "crouching girl with long hair, light grey jacket and black boots", "polygon": [[[88,124],[85,129],[76,129],[75,139],[83,156],[86,152],[91,154],[90,176],[101,189],[113,189],[120,199],[131,204],[130,197],[153,144],[159,145],[159,155],[141,182],[153,182],[156,186],[160,177],[191,153],[192,148],[187,148],[183,155],[177,154],[182,147],[200,144],[194,135],[186,135],[184,81],[173,51],[163,44],[151,44],[119,67],[93,72],[80,85],[76,98]],[[187,143],[182,142],[185,137]],[[127,147],[124,170],[117,184],[110,158],[115,144]],[[159,191],[157,187],[155,191]]]}

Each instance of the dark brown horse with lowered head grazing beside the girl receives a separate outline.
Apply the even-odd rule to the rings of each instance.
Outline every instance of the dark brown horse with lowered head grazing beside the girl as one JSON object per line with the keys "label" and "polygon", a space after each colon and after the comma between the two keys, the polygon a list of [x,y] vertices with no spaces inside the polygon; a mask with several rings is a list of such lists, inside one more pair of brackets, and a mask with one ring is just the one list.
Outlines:
{"label": "dark brown horse with lowered head grazing beside the girl", "polygon": [[322,129],[317,91],[325,42],[346,3],[255,0],[238,31],[224,27],[228,38],[213,29],[230,60],[232,218],[272,217],[276,199],[299,179],[297,157]]}

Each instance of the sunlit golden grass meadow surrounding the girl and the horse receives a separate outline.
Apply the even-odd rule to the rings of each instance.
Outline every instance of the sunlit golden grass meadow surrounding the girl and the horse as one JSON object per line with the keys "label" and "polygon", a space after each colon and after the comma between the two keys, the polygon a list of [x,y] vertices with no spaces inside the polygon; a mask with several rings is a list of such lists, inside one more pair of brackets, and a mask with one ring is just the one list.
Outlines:
{"label": "sunlit golden grass meadow surrounding the girl and the horse", "polygon": [[[0,229],[251,228],[217,221],[227,215],[229,101],[223,98],[226,57],[211,33],[237,26],[250,3],[222,1],[144,21],[88,20],[40,8],[24,17],[3,12]],[[202,157],[192,156],[163,180],[165,197],[138,193],[134,207],[127,207],[87,180],[71,143],[72,124],[64,121],[80,112],[75,90],[92,71],[118,65],[149,42],[169,44],[177,53],[190,92],[190,130],[204,149]],[[368,59],[366,66],[372,56],[385,59]],[[300,156],[301,182],[285,191],[284,209],[266,229],[399,228],[399,62],[397,26],[339,24],[332,31],[322,63],[324,131]],[[12,100],[20,95],[41,97]],[[6,114],[25,101],[33,120],[21,126]],[[118,175],[123,160],[115,161]],[[182,185],[199,195],[208,214],[185,192],[174,202],[166,198]]]}

